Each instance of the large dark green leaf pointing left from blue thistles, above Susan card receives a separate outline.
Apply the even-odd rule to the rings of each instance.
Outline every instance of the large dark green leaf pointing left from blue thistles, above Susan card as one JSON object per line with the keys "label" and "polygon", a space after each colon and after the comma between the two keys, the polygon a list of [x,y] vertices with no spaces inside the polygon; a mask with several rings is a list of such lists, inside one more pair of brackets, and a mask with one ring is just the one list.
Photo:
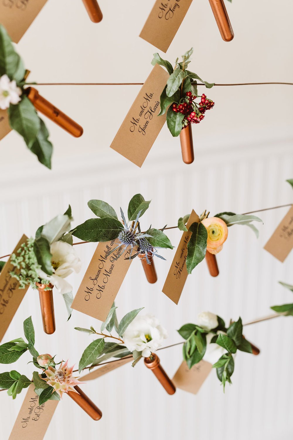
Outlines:
{"label": "large dark green leaf pointing left from blue thistles, above Susan card", "polygon": [[109,242],[115,240],[122,229],[122,224],[116,219],[89,219],[77,226],[72,235],[87,242]]}

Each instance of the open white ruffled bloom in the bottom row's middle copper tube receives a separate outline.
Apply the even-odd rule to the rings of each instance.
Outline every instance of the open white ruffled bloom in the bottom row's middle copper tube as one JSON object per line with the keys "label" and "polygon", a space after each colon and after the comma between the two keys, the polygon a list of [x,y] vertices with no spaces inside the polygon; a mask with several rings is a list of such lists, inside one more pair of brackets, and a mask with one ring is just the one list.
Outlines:
{"label": "open white ruffled bloom in the bottom row's middle copper tube", "polygon": [[122,335],[124,344],[130,352],[136,350],[141,356],[149,357],[162,346],[168,337],[166,329],[153,315],[137,315]]}

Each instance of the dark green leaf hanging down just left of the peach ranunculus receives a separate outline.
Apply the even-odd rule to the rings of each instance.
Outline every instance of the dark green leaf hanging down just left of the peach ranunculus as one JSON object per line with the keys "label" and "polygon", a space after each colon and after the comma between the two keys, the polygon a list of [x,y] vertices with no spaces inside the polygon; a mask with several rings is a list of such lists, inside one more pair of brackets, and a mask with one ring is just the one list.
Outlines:
{"label": "dark green leaf hanging down just left of the peach ranunculus", "polygon": [[188,274],[191,274],[206,255],[207,231],[202,223],[192,223],[189,231],[192,236],[187,245],[186,268]]}

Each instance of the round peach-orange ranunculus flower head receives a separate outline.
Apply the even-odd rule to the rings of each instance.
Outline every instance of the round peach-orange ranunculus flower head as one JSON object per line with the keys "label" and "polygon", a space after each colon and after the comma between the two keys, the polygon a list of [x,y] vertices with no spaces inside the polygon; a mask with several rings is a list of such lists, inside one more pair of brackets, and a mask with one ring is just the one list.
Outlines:
{"label": "round peach-orange ranunculus flower head", "polygon": [[224,220],[218,217],[208,217],[201,222],[207,230],[206,250],[216,254],[223,249],[223,243],[228,237],[228,227]]}

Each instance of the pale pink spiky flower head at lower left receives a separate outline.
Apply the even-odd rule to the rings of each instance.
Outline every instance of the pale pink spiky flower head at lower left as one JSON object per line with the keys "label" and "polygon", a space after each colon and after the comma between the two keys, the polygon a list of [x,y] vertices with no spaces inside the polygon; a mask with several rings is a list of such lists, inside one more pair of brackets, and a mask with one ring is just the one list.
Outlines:
{"label": "pale pink spiky flower head at lower left", "polygon": [[48,367],[48,369],[44,371],[47,376],[44,380],[54,388],[54,391],[56,391],[61,398],[65,392],[77,392],[73,387],[82,383],[72,376],[73,367],[69,368],[67,363],[68,360],[64,364],[62,361],[58,370],[54,367]]}

